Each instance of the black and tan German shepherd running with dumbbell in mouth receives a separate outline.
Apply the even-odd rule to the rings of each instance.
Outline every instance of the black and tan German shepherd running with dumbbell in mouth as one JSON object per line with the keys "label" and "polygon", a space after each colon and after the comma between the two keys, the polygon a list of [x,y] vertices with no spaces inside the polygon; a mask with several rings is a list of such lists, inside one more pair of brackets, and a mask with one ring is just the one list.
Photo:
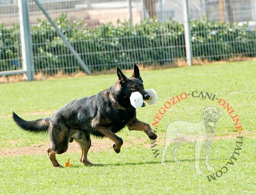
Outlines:
{"label": "black and tan German shepherd running with dumbbell in mouth", "polygon": [[13,119],[26,131],[49,133],[51,145],[47,151],[54,167],[61,167],[56,154],[65,153],[73,139],[81,147],[80,161],[84,165],[94,165],[87,158],[91,147],[91,134],[111,139],[115,143],[113,148],[116,153],[120,153],[123,140],[115,133],[125,125],[130,131],[144,131],[150,139],[155,140],[157,135],[152,132],[149,124],[136,118],[136,109],[130,103],[133,92],[140,92],[144,100],[150,98],[150,94],[144,90],[139,68],[135,64],[131,78],[127,78],[117,68],[117,76],[118,81],[109,89],[97,95],[74,100],[51,117],[26,121],[13,112]]}

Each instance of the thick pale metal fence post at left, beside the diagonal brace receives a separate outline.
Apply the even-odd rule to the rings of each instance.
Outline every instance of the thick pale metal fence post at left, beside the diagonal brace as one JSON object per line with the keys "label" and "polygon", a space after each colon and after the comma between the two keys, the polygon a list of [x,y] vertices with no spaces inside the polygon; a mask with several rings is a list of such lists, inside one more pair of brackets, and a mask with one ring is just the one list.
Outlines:
{"label": "thick pale metal fence post at left, beside the diagonal brace", "polygon": [[28,1],[18,0],[20,42],[22,45],[23,69],[26,80],[34,80],[34,63],[30,33]]}

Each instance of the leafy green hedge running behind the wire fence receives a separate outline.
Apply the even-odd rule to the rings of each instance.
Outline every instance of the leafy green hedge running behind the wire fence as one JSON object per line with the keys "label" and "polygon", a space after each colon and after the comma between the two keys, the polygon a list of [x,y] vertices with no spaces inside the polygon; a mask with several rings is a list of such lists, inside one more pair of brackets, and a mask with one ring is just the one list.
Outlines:
{"label": "leafy green hedge running behind the wire fence", "polygon": [[[172,63],[185,58],[184,26],[173,19],[159,22],[157,19],[141,21],[134,27],[129,21],[117,21],[93,29],[82,25],[83,21],[71,21],[66,14],[55,19],[63,34],[80,54],[92,72],[117,66],[130,69],[134,63],[152,66]],[[0,66],[5,60],[20,53],[17,25],[0,26]],[[256,32],[247,25],[221,24],[208,18],[191,21],[191,41],[194,58],[223,60],[233,56],[256,56]],[[81,70],[69,49],[45,20],[31,27],[33,55],[36,73],[55,74]],[[14,67],[15,68],[15,67]]]}

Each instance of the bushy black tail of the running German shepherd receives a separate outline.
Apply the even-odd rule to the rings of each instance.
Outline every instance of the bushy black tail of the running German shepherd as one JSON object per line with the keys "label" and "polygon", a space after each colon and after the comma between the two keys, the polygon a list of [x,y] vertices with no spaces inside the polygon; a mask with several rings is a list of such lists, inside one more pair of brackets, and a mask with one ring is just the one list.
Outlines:
{"label": "bushy black tail of the running German shepherd", "polygon": [[47,117],[47,118],[37,119],[34,121],[26,121],[20,118],[14,112],[12,112],[12,118],[20,128],[33,133],[43,133],[43,132],[47,133],[50,125],[50,120],[51,120],[51,117]]}

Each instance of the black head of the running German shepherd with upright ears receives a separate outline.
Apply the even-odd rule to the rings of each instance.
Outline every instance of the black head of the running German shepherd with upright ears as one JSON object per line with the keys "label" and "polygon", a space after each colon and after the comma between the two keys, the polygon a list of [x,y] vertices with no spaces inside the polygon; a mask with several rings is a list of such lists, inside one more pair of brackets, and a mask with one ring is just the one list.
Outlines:
{"label": "black head of the running German shepherd with upright ears", "polygon": [[[136,64],[134,65],[134,72],[132,77],[127,78],[119,68],[117,68],[117,76],[117,87],[119,88],[120,96],[124,97],[126,101],[129,99],[130,102],[130,96],[133,92],[139,92],[143,96],[144,100],[150,98],[150,94],[147,93],[144,89],[143,80],[140,76],[140,71]],[[145,106],[145,103],[143,103],[142,106]]]}

